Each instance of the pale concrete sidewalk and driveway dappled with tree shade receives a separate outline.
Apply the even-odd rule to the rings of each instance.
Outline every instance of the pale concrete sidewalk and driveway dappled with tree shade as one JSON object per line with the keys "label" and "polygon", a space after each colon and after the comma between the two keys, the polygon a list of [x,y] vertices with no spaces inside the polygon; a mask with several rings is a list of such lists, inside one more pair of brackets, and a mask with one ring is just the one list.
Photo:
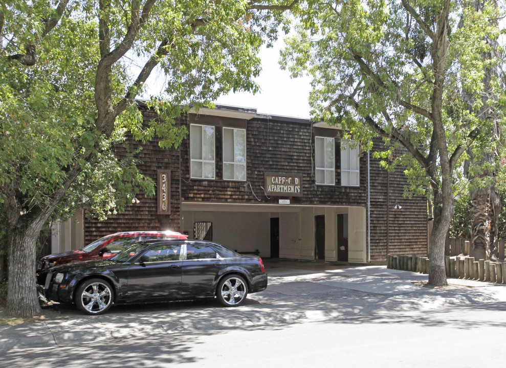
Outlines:
{"label": "pale concrete sidewalk and driveway dappled with tree shade", "polygon": [[506,285],[449,279],[442,289],[422,287],[427,275],[317,262],[267,260],[267,290],[248,295],[238,308],[214,301],[115,306],[99,316],[56,305],[62,319],[0,326],[0,352],[12,348],[61,347],[153,334],[248,329],[329,318],[462,308],[506,301]]}

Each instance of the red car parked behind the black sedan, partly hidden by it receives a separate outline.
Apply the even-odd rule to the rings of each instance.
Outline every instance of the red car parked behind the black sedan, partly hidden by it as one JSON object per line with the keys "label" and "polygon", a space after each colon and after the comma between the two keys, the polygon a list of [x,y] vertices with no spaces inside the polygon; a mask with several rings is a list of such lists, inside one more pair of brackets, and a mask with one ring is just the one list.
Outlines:
{"label": "red car parked behind the black sedan, partly hidden by it", "polygon": [[82,249],[42,257],[37,264],[37,282],[43,285],[46,280],[47,270],[53,266],[71,262],[100,261],[111,258],[123,248],[148,239],[188,239],[188,235],[171,231],[136,231],[107,235],[86,245]]}

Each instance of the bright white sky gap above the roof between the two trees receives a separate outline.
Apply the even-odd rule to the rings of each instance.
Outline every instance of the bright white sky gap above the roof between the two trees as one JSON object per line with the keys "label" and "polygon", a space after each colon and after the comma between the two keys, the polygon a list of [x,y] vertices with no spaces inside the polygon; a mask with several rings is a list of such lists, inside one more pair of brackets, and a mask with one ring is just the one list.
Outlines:
{"label": "bright white sky gap above the roof between the two trees", "polygon": [[222,96],[216,104],[256,108],[257,113],[280,115],[295,118],[310,118],[307,98],[311,90],[309,77],[291,79],[288,71],[279,67],[279,51],[284,45],[282,37],[271,49],[260,51],[262,72],[255,79],[260,91],[236,93]]}

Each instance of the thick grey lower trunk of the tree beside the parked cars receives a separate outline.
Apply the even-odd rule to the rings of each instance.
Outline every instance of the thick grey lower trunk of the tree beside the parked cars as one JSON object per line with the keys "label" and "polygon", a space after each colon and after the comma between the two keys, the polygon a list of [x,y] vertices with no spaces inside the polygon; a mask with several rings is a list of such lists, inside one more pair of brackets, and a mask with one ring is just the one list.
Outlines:
{"label": "thick grey lower trunk of the tree beside the parked cars", "polygon": [[8,229],[9,284],[6,314],[9,316],[32,317],[41,313],[35,282],[36,241],[39,233],[40,228],[33,224],[23,231]]}

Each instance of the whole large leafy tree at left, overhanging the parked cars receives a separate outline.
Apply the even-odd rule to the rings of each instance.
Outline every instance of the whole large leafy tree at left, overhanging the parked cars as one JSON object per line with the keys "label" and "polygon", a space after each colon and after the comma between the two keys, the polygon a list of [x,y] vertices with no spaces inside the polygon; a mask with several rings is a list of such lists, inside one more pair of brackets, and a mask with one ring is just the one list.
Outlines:
{"label": "whole large leafy tree at left, overhanging the parked cars", "polygon": [[[0,6],[0,206],[7,221],[7,312],[40,312],[35,239],[86,205],[121,209],[153,183],[111,147],[126,131],[178,146],[174,118],[230,90],[255,91],[257,52],[277,36],[282,0],[12,0]],[[135,99],[165,79],[143,126]]]}

